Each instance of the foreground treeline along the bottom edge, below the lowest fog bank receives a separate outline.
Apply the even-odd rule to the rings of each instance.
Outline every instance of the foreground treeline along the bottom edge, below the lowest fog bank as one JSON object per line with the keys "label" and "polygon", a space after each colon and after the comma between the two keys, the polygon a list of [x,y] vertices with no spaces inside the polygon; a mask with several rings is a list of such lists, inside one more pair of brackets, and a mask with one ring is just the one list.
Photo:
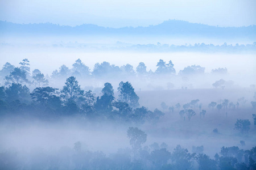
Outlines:
{"label": "foreground treeline along the bottom edge, below the lowest fog bank", "polygon": [[168,145],[147,141],[147,134],[129,128],[127,137],[131,148],[119,148],[108,156],[102,151],[84,150],[81,142],[73,148],[55,152],[20,153],[5,151],[0,154],[1,169],[256,169],[256,147],[243,150],[237,146],[221,147],[213,158],[204,154],[204,146],[193,146],[192,152],[177,145],[171,152]]}

